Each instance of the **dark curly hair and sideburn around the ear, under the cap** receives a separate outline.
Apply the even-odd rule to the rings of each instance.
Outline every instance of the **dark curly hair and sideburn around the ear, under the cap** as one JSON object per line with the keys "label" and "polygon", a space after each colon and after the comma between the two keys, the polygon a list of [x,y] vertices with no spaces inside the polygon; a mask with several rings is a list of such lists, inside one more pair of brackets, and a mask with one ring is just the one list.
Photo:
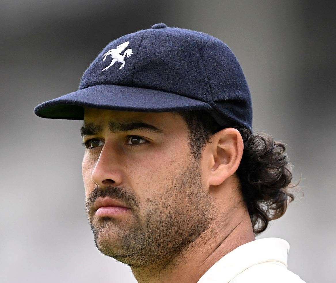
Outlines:
{"label": "dark curly hair and sideburn around the ear, under the cap", "polygon": [[289,192],[292,180],[292,165],[286,144],[274,141],[265,133],[254,135],[242,125],[227,122],[220,126],[207,110],[174,111],[181,116],[189,130],[189,146],[196,161],[200,161],[203,148],[211,136],[225,128],[237,129],[244,142],[240,165],[235,172],[250,219],[253,233],[259,235],[268,222],[280,218],[294,200]]}

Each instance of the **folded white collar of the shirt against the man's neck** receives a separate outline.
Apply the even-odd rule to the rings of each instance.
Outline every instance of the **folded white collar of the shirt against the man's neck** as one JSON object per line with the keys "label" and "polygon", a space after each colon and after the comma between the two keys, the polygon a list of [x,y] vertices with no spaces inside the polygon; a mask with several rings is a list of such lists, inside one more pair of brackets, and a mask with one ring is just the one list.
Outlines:
{"label": "folded white collar of the shirt against the man's neck", "polygon": [[276,261],[287,269],[289,243],[281,238],[263,238],[243,244],[219,259],[197,283],[229,282],[254,264]]}

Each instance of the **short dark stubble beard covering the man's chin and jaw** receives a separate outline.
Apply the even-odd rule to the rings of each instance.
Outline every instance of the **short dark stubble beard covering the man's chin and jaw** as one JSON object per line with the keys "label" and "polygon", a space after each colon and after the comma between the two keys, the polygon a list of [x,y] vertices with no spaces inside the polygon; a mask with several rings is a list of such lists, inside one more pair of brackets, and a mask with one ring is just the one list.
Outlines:
{"label": "short dark stubble beard covering the man's chin and jaw", "polygon": [[134,269],[163,269],[194,242],[214,216],[207,190],[202,187],[199,162],[190,164],[172,176],[163,195],[153,194],[147,200],[143,216],[136,217],[138,222],[124,230],[113,223],[114,227],[119,225],[118,239],[108,237],[113,217],[99,229],[89,220],[97,249]]}

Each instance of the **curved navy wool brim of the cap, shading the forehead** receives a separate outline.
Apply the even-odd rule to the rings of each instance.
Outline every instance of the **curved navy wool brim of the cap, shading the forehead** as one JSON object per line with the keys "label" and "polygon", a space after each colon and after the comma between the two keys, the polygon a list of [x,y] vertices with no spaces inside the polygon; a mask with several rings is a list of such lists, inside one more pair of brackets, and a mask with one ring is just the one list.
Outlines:
{"label": "curved navy wool brim of the cap, shading the forehead", "polygon": [[211,109],[206,102],[177,94],[100,84],[43,102],[34,108],[34,112],[42,118],[83,120],[84,107],[140,112]]}

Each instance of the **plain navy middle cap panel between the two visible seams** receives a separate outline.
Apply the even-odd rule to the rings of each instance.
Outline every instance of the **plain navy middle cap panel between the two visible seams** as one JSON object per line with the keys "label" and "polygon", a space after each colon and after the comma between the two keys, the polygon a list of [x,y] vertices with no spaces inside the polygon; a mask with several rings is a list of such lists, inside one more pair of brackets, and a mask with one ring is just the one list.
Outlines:
{"label": "plain navy middle cap panel between the two visible seams", "polygon": [[209,102],[211,94],[195,40],[183,29],[151,29],[138,51],[133,85]]}

